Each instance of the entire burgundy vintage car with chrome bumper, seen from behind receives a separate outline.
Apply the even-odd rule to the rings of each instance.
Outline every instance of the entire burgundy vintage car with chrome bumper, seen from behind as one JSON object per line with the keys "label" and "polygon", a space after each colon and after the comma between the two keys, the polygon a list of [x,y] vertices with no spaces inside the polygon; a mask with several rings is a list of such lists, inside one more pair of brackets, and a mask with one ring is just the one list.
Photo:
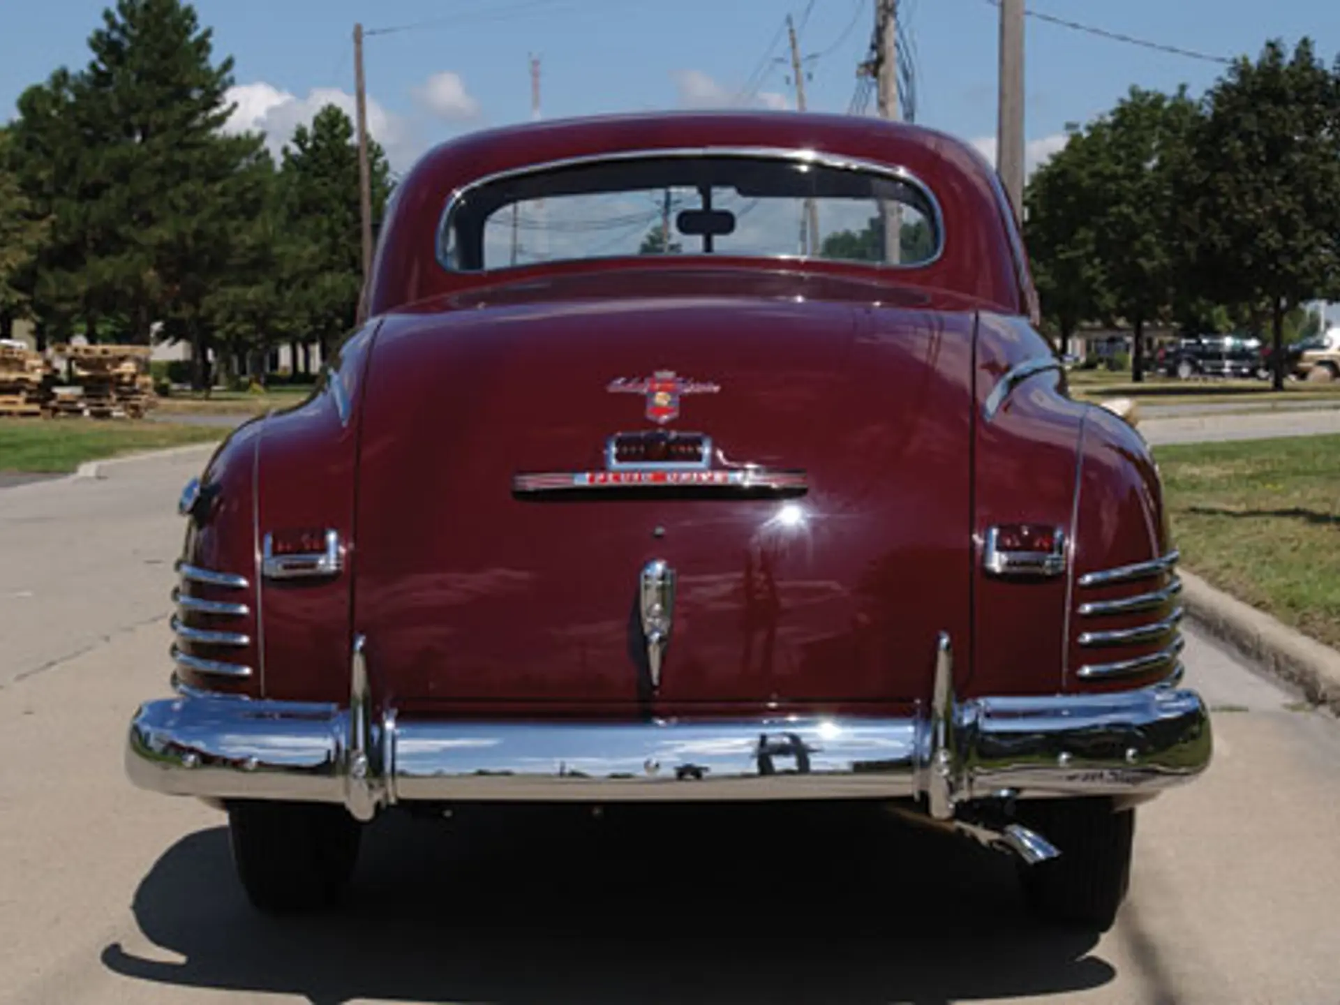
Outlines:
{"label": "entire burgundy vintage car with chrome bumper, seen from behind", "polygon": [[130,728],[255,904],[327,903],[397,807],[878,800],[1112,923],[1210,725],[1150,452],[1067,395],[969,146],[468,135],[397,189],[364,307],[186,488],[176,697]]}

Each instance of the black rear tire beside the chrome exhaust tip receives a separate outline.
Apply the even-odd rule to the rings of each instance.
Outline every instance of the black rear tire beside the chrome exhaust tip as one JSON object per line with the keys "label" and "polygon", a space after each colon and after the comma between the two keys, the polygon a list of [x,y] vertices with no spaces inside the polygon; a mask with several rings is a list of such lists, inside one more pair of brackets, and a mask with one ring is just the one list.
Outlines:
{"label": "black rear tire beside the chrome exhaust tip", "polygon": [[1061,852],[1024,867],[1033,914],[1055,925],[1111,929],[1131,884],[1135,811],[1114,812],[1107,800],[1043,800],[1020,817]]}

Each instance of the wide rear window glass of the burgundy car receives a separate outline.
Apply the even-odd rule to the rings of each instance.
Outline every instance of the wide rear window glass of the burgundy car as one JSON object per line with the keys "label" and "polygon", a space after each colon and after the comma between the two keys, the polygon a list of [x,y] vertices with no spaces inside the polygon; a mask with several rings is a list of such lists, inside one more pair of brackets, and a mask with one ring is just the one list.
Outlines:
{"label": "wide rear window glass of the burgundy car", "polygon": [[[496,178],[449,206],[462,272],[631,255],[819,257],[915,267],[943,234],[896,172],[758,155],[619,157]],[[887,236],[896,236],[887,240]]]}

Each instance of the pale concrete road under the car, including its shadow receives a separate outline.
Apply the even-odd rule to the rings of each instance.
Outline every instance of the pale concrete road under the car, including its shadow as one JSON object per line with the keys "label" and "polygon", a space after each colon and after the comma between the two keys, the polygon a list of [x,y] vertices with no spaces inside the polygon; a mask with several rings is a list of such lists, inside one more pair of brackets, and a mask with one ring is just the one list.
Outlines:
{"label": "pale concrete road under the car, including its shadow", "polygon": [[1340,724],[1195,632],[1215,761],[1140,811],[1097,938],[1010,862],[872,812],[513,812],[370,828],[348,904],[253,914],[220,813],[139,792],[173,504],[205,452],[0,490],[0,1001],[1340,1001]]}

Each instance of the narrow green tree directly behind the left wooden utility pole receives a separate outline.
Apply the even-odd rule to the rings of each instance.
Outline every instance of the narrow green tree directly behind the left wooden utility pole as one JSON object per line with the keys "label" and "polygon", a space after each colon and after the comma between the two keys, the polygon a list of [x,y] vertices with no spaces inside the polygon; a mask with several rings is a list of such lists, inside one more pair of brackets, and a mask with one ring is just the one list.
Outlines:
{"label": "narrow green tree directly behind the left wooden utility pole", "polygon": [[[390,172],[375,142],[368,143],[368,163],[378,228]],[[289,232],[283,268],[307,336],[320,342],[324,358],[354,327],[363,287],[358,147],[348,115],[327,105],[311,126],[299,126],[280,176]]]}

